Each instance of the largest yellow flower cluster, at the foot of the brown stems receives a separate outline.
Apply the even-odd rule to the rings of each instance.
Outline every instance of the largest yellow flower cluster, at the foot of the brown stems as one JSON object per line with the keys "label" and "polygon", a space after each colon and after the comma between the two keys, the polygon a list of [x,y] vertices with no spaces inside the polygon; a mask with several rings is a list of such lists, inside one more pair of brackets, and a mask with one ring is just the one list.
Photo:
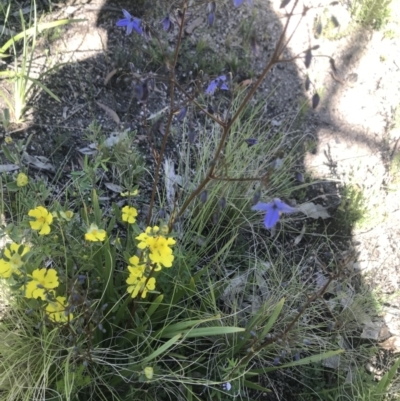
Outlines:
{"label": "largest yellow flower cluster, at the foot of the brown stems", "polygon": [[[127,291],[132,298],[136,298],[141,294],[145,298],[148,291],[152,291],[156,287],[156,279],[150,277],[153,271],[161,270],[162,266],[171,267],[174,260],[171,246],[175,244],[175,240],[167,238],[168,228],[159,228],[157,226],[147,227],[146,231],[136,237],[139,240],[138,248],[143,252],[143,261],[141,262],[137,256],[129,259],[129,277],[126,280],[128,284]],[[150,273],[146,274],[147,268]]]}

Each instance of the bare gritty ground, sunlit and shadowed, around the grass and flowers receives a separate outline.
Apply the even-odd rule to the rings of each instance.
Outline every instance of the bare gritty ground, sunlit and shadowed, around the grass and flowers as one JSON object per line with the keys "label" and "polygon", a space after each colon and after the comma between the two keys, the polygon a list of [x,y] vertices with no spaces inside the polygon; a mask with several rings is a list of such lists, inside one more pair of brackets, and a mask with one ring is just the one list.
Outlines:
{"label": "bare gritty ground, sunlit and shadowed, around the grass and flowers", "polygon": [[[48,81],[61,103],[37,96],[24,130],[18,128],[15,133],[16,136],[34,134],[32,155],[49,157],[56,166],[69,155],[63,168],[64,171],[73,169],[79,164],[76,149],[87,146],[83,132],[94,118],[105,132],[128,126],[140,133],[140,105],[133,99],[130,78],[117,74],[118,79],[114,77],[110,81],[112,85],[105,82],[114,68],[126,67],[127,58],[136,60],[136,73],[151,70],[137,61],[140,51],[150,51],[149,45],[135,34],[127,37],[123,29],[115,26],[122,18],[122,8],[136,15],[133,3],[69,0],[54,8],[51,19],[73,17],[85,21],[68,26],[59,38],[48,38],[42,43],[54,64],[68,65]],[[190,15],[194,25],[185,38],[188,54],[195,51],[201,39],[206,41],[211,54],[229,49],[237,55],[239,67],[234,79],[243,81],[257,76],[273,51],[290,8],[279,8],[280,3],[254,0],[253,8],[246,2],[234,8],[232,0],[218,2],[211,28],[206,24],[205,12]],[[380,316],[371,316],[366,323],[364,335],[375,340],[389,339],[388,348],[400,351],[400,250],[397,246],[400,162],[396,167],[396,160],[400,159],[400,2],[394,2],[391,22],[380,31],[355,24],[347,2],[325,3],[305,0],[310,9],[304,17],[303,8],[299,7],[289,33],[301,21],[285,55],[299,57],[275,66],[257,96],[268,98],[265,112],[273,127],[301,117],[300,128],[296,124],[289,124],[289,128],[296,135],[304,136],[310,145],[304,160],[308,174],[338,186],[347,185],[363,194],[367,212],[354,227],[351,238],[358,253],[354,269],[362,272],[371,290],[383,294],[387,300]],[[160,12],[152,7],[141,11],[144,14],[137,16],[148,21]],[[332,21],[332,16],[337,26],[331,24],[319,34],[316,21]],[[155,26],[158,21],[152,24]],[[243,21],[249,21],[250,25]],[[246,46],[243,39],[246,32],[257,38],[255,51]],[[124,53],[124,43],[132,42],[137,42],[137,53]],[[173,46],[173,35],[170,45]],[[307,68],[304,52],[316,45],[319,47],[312,51]],[[186,55],[186,64],[178,65],[182,80],[196,67],[189,55]],[[334,66],[330,60],[334,60]],[[210,68],[212,61],[210,58]],[[37,65],[40,68],[39,58]],[[162,71],[162,66],[155,66],[153,70]],[[210,75],[217,75],[217,71]],[[307,76],[308,90],[305,89]],[[315,92],[321,100],[313,110],[311,98]],[[99,103],[114,110],[120,116],[120,124]],[[149,108],[155,112],[166,105],[167,93],[162,90],[157,98],[149,101]]]}

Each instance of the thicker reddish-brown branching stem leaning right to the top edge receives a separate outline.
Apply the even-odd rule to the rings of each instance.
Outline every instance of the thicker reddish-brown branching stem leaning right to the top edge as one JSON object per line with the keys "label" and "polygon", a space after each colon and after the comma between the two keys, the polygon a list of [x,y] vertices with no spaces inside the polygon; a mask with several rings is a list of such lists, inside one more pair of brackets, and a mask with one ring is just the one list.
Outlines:
{"label": "thicker reddish-brown branching stem leaning right to the top edge", "polygon": [[295,3],[293,4],[292,11],[289,14],[288,19],[286,20],[285,27],[283,28],[282,34],[281,34],[281,36],[280,36],[280,38],[278,40],[277,45],[275,46],[275,50],[274,50],[274,53],[272,54],[271,60],[269,61],[267,66],[264,68],[264,71],[261,73],[260,77],[257,79],[257,81],[255,82],[254,86],[251,88],[249,93],[246,95],[246,97],[244,98],[243,102],[240,104],[240,106],[239,106],[238,110],[236,111],[235,115],[232,117],[232,119],[229,121],[229,123],[227,125],[223,125],[224,131],[223,131],[221,140],[219,142],[218,148],[217,148],[217,150],[215,152],[214,159],[211,161],[211,165],[210,165],[210,168],[208,170],[208,173],[207,173],[206,177],[199,184],[199,186],[190,194],[190,196],[186,199],[186,201],[182,205],[182,207],[179,210],[179,212],[178,212],[176,217],[182,216],[182,214],[187,209],[189,204],[193,201],[193,199],[212,180],[212,175],[214,173],[214,169],[215,169],[215,167],[217,165],[218,159],[219,159],[219,157],[221,155],[221,152],[222,152],[222,148],[225,145],[225,141],[226,141],[226,139],[228,137],[230,129],[232,128],[232,125],[238,119],[238,117],[242,113],[243,109],[245,108],[245,106],[247,105],[249,100],[253,97],[255,91],[258,89],[258,87],[260,86],[261,82],[264,80],[264,78],[268,74],[269,70],[272,68],[272,66],[274,64],[279,62],[280,56],[282,55],[282,53],[283,53],[283,51],[285,49],[285,46],[287,46],[287,43],[284,46],[282,46],[282,43],[284,42],[284,38],[285,38],[285,34],[286,34],[286,31],[287,31],[288,26],[289,26],[290,18],[292,16],[293,11],[294,11],[295,7],[297,6],[298,2],[299,2],[299,0],[296,0]]}

